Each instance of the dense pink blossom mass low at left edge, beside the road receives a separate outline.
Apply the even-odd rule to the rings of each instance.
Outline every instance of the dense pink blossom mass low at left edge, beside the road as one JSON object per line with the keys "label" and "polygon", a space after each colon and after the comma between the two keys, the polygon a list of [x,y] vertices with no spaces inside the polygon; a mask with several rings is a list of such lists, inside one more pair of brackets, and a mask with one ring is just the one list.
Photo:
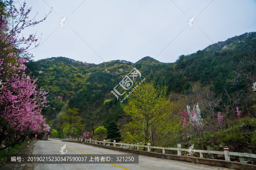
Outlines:
{"label": "dense pink blossom mass low at left edge, beside the road", "polygon": [[[23,142],[29,133],[48,133],[49,125],[41,114],[46,107],[47,92],[36,89],[37,79],[29,76],[14,75],[15,82],[3,82],[3,92],[0,95],[0,143],[5,139],[14,138],[11,145]],[[1,150],[1,149],[0,149]]]}

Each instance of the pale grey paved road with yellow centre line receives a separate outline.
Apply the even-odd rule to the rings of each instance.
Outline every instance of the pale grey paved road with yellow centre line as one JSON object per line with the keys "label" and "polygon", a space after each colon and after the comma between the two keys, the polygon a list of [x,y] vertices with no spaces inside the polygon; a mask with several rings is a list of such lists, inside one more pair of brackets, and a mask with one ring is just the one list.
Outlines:
{"label": "pale grey paved road with yellow centre line", "polygon": [[[33,154],[60,154],[61,147],[67,144],[69,154],[127,154],[85,144],[61,142],[61,140],[38,141]],[[83,153],[81,153],[83,152]],[[84,154],[84,156],[87,156]],[[27,164],[25,170],[224,170],[226,168],[210,167],[202,164],[192,164],[182,161],[139,156],[139,164]]]}

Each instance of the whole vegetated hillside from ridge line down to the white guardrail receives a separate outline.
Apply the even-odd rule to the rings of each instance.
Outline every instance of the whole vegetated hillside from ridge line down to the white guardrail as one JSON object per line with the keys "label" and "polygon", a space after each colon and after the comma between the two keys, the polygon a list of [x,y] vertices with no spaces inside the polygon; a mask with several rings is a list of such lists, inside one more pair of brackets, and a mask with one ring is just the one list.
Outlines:
{"label": "whole vegetated hillside from ridge line down to the white guardrail", "polygon": [[[165,147],[181,143],[184,148],[195,144],[196,149],[204,150],[223,150],[229,146],[233,152],[256,154],[256,95],[251,87],[256,81],[255,50],[256,32],[250,32],[193,54],[180,55],[174,63],[144,57],[136,63],[113,60],[90,64],[52,57],[27,62],[26,73],[32,72],[39,78],[38,86],[49,91],[50,108],[44,108],[42,113],[52,127],[51,136],[62,138],[69,133],[70,137],[81,137],[81,132],[88,132],[86,136],[96,138],[97,128],[104,129],[102,126],[112,126],[115,122],[121,132],[121,137],[116,138],[122,142],[151,142]],[[135,82],[142,78],[146,81],[120,105],[125,95],[117,100],[111,91],[134,67],[142,74]],[[147,105],[139,101],[142,96],[138,89],[168,108],[157,113],[146,137],[144,119],[135,117],[135,110],[128,109],[128,106],[133,108],[135,99]],[[125,92],[120,87],[118,91]],[[69,108],[78,110],[68,111]],[[152,111],[150,108],[147,107]],[[164,125],[163,117],[169,121]],[[193,117],[197,118],[194,122]],[[162,131],[158,132],[159,129]],[[256,163],[253,159],[247,162]]]}

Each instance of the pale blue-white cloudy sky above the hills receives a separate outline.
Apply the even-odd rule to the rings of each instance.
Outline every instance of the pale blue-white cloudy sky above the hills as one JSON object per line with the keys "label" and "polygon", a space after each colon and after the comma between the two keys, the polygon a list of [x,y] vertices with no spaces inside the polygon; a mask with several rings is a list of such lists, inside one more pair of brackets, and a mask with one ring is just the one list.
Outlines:
{"label": "pale blue-white cloudy sky above the hills", "polygon": [[26,5],[35,20],[51,10],[44,22],[22,32],[40,37],[40,45],[29,51],[35,61],[61,56],[99,64],[150,56],[175,62],[182,54],[256,31],[256,0],[26,0]]}

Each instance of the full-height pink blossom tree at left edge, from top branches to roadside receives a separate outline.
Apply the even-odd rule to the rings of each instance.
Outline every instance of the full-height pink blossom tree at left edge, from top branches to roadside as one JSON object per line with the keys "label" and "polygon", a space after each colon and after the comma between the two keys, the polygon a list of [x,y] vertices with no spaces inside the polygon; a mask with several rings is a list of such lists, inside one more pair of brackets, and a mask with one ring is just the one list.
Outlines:
{"label": "full-height pink blossom tree at left edge, from top branches to roadside", "polygon": [[[23,142],[29,133],[49,132],[49,125],[41,115],[41,110],[48,102],[46,92],[36,89],[37,79],[24,74],[26,66],[25,54],[33,42],[35,35],[20,36],[24,28],[42,22],[29,19],[31,8],[26,3],[17,9],[13,1],[1,2],[0,8],[0,144],[3,140],[12,139],[11,145]],[[35,47],[38,44],[35,44]],[[21,46],[21,47],[20,47]]]}

